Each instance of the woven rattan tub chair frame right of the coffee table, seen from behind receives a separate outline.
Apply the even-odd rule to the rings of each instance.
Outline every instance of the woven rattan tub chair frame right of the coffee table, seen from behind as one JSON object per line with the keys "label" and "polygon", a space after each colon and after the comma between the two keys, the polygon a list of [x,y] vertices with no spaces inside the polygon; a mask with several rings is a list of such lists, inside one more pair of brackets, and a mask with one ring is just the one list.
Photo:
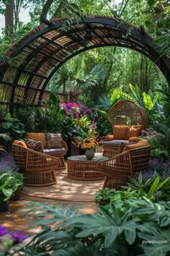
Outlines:
{"label": "woven rattan tub chair frame right of the coffee table, seen from behind", "polygon": [[129,176],[143,171],[148,166],[150,147],[128,150],[108,160],[97,163],[97,168],[105,174],[104,187],[121,189],[128,182]]}

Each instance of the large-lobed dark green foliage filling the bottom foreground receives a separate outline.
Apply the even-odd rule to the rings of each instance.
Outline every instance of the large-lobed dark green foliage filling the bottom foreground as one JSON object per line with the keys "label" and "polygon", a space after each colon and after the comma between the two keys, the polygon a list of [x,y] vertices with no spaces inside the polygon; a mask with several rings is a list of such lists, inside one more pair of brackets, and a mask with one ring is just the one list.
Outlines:
{"label": "large-lobed dark green foliage filling the bottom foreground", "polygon": [[169,202],[155,203],[143,197],[126,199],[124,205],[122,210],[122,200],[117,200],[117,205],[100,206],[98,214],[82,215],[62,205],[34,202],[34,211],[41,212],[35,216],[42,218],[34,226],[41,225],[43,231],[17,252],[37,256],[169,255]]}

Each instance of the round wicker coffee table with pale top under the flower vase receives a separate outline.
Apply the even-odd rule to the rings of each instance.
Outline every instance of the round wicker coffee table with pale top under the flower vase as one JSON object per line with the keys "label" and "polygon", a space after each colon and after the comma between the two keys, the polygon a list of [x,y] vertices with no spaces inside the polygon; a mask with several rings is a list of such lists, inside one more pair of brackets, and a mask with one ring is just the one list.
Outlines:
{"label": "round wicker coffee table with pale top under the flower vase", "polygon": [[97,180],[104,179],[104,174],[97,170],[97,163],[108,159],[106,156],[95,154],[94,158],[87,160],[85,155],[73,155],[68,160],[68,177],[71,179]]}

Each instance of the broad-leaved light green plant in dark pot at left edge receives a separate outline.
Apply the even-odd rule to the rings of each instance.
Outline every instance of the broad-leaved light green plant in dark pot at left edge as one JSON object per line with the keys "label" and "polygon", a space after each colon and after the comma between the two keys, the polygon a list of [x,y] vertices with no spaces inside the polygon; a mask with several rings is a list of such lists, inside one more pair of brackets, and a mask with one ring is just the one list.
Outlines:
{"label": "broad-leaved light green plant in dark pot at left edge", "polygon": [[9,199],[17,190],[18,184],[14,182],[14,177],[10,174],[0,173],[0,213],[9,208]]}

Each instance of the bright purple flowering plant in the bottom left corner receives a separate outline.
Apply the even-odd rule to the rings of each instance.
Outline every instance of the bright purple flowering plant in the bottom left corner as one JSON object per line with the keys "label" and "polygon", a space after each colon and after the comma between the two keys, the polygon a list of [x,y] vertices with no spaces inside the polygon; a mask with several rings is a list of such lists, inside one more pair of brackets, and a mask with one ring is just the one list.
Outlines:
{"label": "bright purple flowering plant in the bottom left corner", "polygon": [[0,247],[2,252],[1,256],[13,255],[10,249],[16,244],[19,244],[27,239],[29,236],[27,234],[22,234],[21,231],[12,232],[6,229],[4,226],[0,226]]}

